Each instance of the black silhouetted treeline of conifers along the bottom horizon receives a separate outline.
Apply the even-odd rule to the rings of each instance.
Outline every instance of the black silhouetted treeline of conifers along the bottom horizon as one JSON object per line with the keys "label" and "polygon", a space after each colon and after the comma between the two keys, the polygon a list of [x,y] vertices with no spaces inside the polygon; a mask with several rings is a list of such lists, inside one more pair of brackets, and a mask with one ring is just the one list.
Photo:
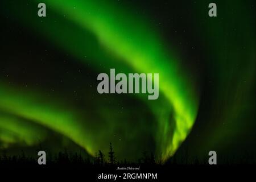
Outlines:
{"label": "black silhouetted treeline of conifers along the bottom horizon", "polygon": [[[40,150],[42,147],[40,146]],[[80,152],[68,152],[67,149],[64,151],[60,151],[56,154],[52,154],[51,152],[47,152],[47,166],[118,166],[118,165],[125,165],[125,164],[141,164],[142,166],[173,166],[176,164],[193,164],[193,165],[205,165],[208,164],[208,159],[199,160],[198,158],[189,158],[188,152],[185,151],[184,154],[168,155],[166,162],[163,162],[161,159],[156,159],[154,152],[142,152],[141,158],[138,159],[137,162],[129,162],[125,160],[117,160],[115,156],[115,152],[112,146],[112,143],[109,143],[109,152],[108,155],[99,150],[95,153],[95,155],[85,157]],[[234,159],[234,160],[222,160],[225,164],[250,164],[254,163],[255,159],[247,158],[242,159]],[[0,167],[6,166],[19,166],[19,165],[38,165],[38,156],[35,155],[27,156],[24,151],[21,152],[19,155],[7,155],[7,151],[3,151],[2,155],[0,155]]]}

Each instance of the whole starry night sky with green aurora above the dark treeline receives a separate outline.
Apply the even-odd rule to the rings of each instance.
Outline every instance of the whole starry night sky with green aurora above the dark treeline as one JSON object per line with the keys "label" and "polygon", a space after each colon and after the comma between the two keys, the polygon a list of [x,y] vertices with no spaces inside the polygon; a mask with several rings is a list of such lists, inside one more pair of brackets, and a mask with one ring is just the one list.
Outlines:
{"label": "whole starry night sky with green aurora above the dark treeline", "polygon": [[[215,19],[197,1],[46,0],[45,18],[39,2],[0,3],[2,149],[58,142],[93,156],[112,142],[118,159],[143,151],[166,159],[188,136],[193,155],[204,156],[253,133],[253,1],[218,1]],[[97,75],[111,68],[159,73],[158,100],[98,94]]]}

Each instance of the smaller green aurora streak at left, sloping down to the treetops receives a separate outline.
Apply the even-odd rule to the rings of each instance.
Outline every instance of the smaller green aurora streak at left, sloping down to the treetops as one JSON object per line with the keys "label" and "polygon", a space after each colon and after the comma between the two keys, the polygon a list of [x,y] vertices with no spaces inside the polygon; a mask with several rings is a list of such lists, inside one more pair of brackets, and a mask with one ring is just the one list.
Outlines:
{"label": "smaller green aurora streak at left, sloping down to the treetops", "polygon": [[[88,140],[88,135],[84,135],[84,130],[82,130],[83,127],[81,126],[82,122],[79,122],[81,121],[78,117],[79,114],[75,113],[74,110],[69,111],[70,109],[68,109],[64,103],[60,106],[60,101],[55,100],[55,102],[52,102],[42,95],[29,92],[28,90],[19,89],[17,92],[15,89],[11,89],[3,83],[0,85],[2,88],[0,89],[0,108],[3,111],[26,118],[29,121],[40,123],[40,125],[55,130],[86,148],[90,154],[93,154],[94,151],[88,147],[92,146],[89,144],[90,140]],[[28,126],[31,125],[20,125],[12,118],[0,119],[0,128],[5,129],[5,127],[7,127],[9,130],[23,135],[28,144],[39,142],[41,137],[39,138],[39,130],[36,130],[36,127],[32,127],[30,130]],[[85,143],[89,145],[85,146]]]}

